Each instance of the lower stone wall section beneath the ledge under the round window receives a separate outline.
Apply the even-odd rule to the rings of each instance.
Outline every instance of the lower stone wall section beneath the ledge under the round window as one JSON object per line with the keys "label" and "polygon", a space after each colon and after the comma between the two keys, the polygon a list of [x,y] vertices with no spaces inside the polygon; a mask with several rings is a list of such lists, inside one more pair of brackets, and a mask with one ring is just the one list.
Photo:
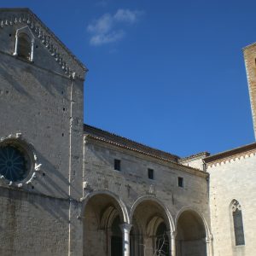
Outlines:
{"label": "lower stone wall section beneath the ledge under the round window", "polygon": [[0,254],[67,255],[69,201],[0,187]]}

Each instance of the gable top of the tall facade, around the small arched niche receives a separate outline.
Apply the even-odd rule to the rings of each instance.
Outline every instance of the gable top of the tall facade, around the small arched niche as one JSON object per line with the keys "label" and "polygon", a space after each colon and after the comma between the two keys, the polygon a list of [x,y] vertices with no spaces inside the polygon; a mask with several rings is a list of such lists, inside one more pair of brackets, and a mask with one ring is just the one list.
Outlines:
{"label": "gable top of the tall facade, around the small arched niche", "polygon": [[[52,60],[50,62],[55,62],[52,65],[58,69],[57,72],[65,73],[68,76],[75,73],[76,77],[84,79],[87,68],[30,9],[0,9],[0,44],[3,52],[15,55],[15,37],[21,28],[32,33],[35,38],[34,49],[40,45],[41,49],[37,50],[43,54],[40,57],[42,62],[36,64],[45,66],[50,58]],[[7,41],[6,38],[10,38],[10,40]],[[35,56],[36,60],[37,56]]]}

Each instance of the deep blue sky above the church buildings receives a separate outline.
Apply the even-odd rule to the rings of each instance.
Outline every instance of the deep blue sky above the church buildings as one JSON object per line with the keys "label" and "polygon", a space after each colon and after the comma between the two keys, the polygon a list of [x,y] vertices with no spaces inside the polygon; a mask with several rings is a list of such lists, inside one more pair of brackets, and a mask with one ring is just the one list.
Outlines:
{"label": "deep blue sky above the church buildings", "polygon": [[186,156],[253,143],[255,1],[15,1],[89,68],[84,122]]}

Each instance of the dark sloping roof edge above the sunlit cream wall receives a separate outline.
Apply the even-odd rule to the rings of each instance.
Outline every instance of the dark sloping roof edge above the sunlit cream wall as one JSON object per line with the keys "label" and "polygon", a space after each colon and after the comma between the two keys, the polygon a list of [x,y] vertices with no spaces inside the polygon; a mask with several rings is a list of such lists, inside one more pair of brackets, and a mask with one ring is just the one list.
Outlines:
{"label": "dark sloping roof edge above the sunlit cream wall", "polygon": [[238,148],[233,148],[233,149],[230,149],[230,150],[226,150],[226,151],[220,152],[218,154],[212,154],[210,156],[207,156],[204,159],[204,161],[206,163],[211,163],[213,161],[228,158],[230,156],[233,156],[233,155],[236,155],[236,154],[241,154],[241,153],[244,153],[244,152],[247,152],[247,151],[251,151],[253,149],[256,149],[256,143],[251,143],[251,144],[247,144],[247,145],[244,145],[244,146],[241,146],[241,147],[238,147]]}

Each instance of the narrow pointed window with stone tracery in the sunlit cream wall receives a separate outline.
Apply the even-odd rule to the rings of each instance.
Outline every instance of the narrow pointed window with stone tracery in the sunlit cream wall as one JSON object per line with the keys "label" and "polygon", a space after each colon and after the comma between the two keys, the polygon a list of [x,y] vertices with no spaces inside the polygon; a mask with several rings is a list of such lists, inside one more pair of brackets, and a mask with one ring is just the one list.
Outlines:
{"label": "narrow pointed window with stone tracery in the sunlit cream wall", "polygon": [[239,201],[236,201],[236,200],[232,201],[231,209],[232,209],[236,246],[244,245],[245,241],[244,241],[244,233],[243,233],[241,205]]}

